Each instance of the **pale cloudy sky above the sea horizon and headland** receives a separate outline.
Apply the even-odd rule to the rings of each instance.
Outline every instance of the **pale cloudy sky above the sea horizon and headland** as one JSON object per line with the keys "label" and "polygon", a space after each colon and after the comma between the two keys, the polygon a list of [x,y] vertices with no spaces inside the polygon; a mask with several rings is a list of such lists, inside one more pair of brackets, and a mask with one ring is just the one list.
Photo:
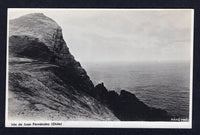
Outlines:
{"label": "pale cloudy sky above the sea horizon and headland", "polygon": [[188,61],[193,11],[133,9],[9,9],[9,19],[44,13],[61,26],[80,62]]}

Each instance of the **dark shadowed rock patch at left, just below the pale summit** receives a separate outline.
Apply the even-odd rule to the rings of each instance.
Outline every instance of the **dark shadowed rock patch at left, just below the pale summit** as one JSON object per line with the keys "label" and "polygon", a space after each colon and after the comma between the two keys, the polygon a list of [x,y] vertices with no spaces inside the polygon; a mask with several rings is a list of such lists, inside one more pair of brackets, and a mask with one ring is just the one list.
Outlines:
{"label": "dark shadowed rock patch at left, just below the pale summit", "polygon": [[20,35],[9,37],[9,55],[49,61],[53,53],[38,38]]}

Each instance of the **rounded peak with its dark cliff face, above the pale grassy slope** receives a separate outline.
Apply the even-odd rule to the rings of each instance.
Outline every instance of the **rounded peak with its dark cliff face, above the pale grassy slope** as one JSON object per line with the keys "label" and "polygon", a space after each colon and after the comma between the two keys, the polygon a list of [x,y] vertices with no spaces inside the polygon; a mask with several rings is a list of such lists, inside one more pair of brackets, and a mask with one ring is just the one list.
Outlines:
{"label": "rounded peak with its dark cliff face, above the pale grassy slope", "polygon": [[[66,83],[90,93],[94,87],[93,83],[80,63],[70,53],[63,39],[62,29],[54,20],[42,13],[28,14],[11,20],[9,28],[9,52],[13,53],[11,49],[16,49],[18,52],[14,55],[24,55],[23,57],[32,59],[39,59],[35,55],[48,55],[45,56],[48,58],[46,61],[61,67],[54,72],[60,75]],[[41,48],[43,48],[42,52]],[[29,50],[28,54],[23,53],[27,50]]]}

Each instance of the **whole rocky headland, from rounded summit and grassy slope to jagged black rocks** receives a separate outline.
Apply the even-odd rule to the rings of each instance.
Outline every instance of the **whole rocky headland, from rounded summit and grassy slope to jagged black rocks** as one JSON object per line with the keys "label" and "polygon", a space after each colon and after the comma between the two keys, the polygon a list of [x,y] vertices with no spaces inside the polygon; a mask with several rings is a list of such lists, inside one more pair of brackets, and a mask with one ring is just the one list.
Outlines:
{"label": "whole rocky headland, from rounded summit and grassy slope to jagged black rocks", "polygon": [[44,14],[9,22],[9,102],[11,119],[170,120],[134,94],[94,87],[69,52],[58,24]]}

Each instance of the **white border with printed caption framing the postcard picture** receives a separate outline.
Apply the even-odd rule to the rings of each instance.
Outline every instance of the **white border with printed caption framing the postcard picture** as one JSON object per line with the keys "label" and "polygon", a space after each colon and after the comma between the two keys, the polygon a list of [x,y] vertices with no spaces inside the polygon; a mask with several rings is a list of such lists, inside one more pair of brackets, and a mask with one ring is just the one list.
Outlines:
{"label": "white border with printed caption framing the postcard picture", "polygon": [[[191,59],[190,59],[190,107],[189,107],[189,121],[188,122],[147,122],[147,121],[9,121],[8,120],[8,56],[9,56],[9,10],[134,10],[134,11],[141,11],[141,10],[155,10],[155,11],[162,11],[162,10],[189,10],[191,11]],[[39,12],[39,11],[38,11]],[[71,128],[172,128],[172,129],[191,129],[192,128],[192,88],[193,88],[193,34],[194,34],[194,9],[88,9],[88,8],[8,8],[7,10],[7,57],[6,57],[6,107],[5,107],[5,126],[6,127],[71,127]],[[54,125],[52,126],[51,123],[62,123],[61,126]],[[11,124],[17,124],[17,126],[13,126]],[[24,126],[24,123],[31,123],[30,126]],[[35,126],[33,123],[49,123],[50,126]],[[18,124],[22,124],[22,126],[18,126]]]}

